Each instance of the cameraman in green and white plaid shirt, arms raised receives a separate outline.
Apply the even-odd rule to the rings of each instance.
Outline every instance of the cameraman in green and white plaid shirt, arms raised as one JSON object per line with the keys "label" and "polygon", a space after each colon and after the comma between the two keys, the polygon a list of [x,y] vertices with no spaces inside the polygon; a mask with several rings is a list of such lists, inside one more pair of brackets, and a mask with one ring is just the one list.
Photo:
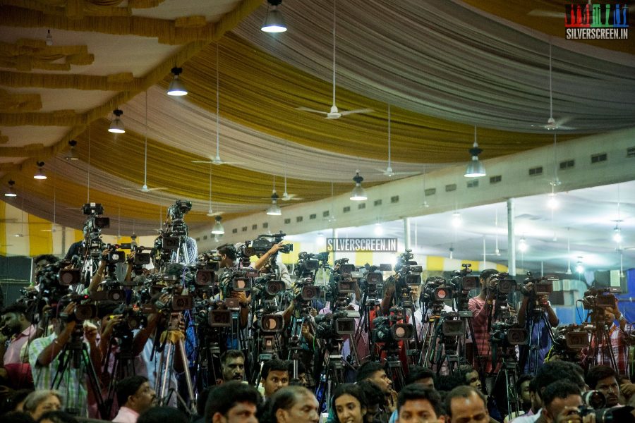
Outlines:
{"label": "cameraman in green and white plaid shirt, arms raised", "polygon": [[[29,363],[32,369],[35,389],[50,389],[54,377],[60,369],[60,353],[64,346],[71,341],[75,326],[81,324],[72,318],[75,311],[75,302],[68,305],[59,312],[53,314],[52,324],[54,333],[44,338],[37,338],[29,346]],[[102,354],[97,347],[97,328],[95,326],[83,326],[83,342],[90,348],[90,360],[93,366],[98,369],[102,361]],[[61,377],[60,377],[61,376]],[[62,397],[64,408],[79,410],[87,417],[89,387],[82,369],[75,369],[69,366],[62,375],[58,375],[60,381],[59,391]],[[91,392],[91,394],[93,394]],[[94,411],[94,410],[93,410]],[[96,412],[94,413],[96,415]]]}

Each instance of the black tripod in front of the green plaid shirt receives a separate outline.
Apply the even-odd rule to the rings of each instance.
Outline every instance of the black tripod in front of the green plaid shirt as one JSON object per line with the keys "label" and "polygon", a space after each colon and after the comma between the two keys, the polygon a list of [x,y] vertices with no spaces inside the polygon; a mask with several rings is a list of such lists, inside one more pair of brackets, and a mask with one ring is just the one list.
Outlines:
{"label": "black tripod in front of the green plaid shirt", "polygon": [[[95,394],[95,400],[97,400],[99,415],[103,419],[109,419],[110,410],[104,404],[97,372],[95,372],[95,367],[90,360],[88,345],[84,343],[82,326],[75,326],[71,334],[71,340],[64,345],[63,350],[59,353],[59,365],[51,381],[51,389],[56,390],[59,390],[63,381],[66,385],[67,393],[71,392],[71,384],[75,384],[75,398],[66,397],[66,411],[73,415],[79,415],[81,411],[87,409],[87,404],[82,404],[85,400],[84,398],[87,398],[87,391],[82,389],[83,386],[81,386],[80,382],[83,376],[88,376],[90,388]],[[72,406],[69,407],[68,405]]]}

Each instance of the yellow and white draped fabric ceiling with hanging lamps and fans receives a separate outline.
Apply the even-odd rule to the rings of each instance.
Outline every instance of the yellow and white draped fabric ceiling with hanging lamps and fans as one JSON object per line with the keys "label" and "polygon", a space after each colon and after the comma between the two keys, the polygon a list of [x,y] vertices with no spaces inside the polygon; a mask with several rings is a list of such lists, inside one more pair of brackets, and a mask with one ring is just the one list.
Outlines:
{"label": "yellow and white draped fabric ceiling with hanging lamps and fans", "polygon": [[[260,31],[261,0],[4,0],[0,186],[16,180],[14,205],[65,226],[90,200],[150,233],[176,198],[202,226],[210,205],[262,211],[274,178],[296,195],[283,206],[350,190],[356,169],[386,182],[388,104],[397,172],[465,163],[475,125],[483,159],[540,147],[553,142],[550,44],[553,116],[571,128],[559,140],[632,126],[635,37],[566,40],[566,3],[337,1],[337,106],[373,111],[333,121],[296,109],[332,105],[333,0],[284,0],[278,35]],[[173,66],[186,97],[165,94]],[[123,135],[107,132],[116,108]],[[69,140],[79,161],[63,159]],[[217,140],[229,164],[192,163]],[[32,178],[37,161],[49,180]],[[140,192],[144,180],[164,190]]]}

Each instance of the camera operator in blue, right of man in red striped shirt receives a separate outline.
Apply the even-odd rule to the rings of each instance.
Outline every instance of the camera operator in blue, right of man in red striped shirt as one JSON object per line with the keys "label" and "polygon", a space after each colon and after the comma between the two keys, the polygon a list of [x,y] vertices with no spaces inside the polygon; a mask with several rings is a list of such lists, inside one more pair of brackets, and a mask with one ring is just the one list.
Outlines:
{"label": "camera operator in blue, right of man in red striped shirt", "polygon": [[[521,357],[528,357],[530,355],[529,349],[536,348],[537,345],[538,357],[535,362],[540,367],[545,362],[545,357],[549,353],[552,344],[550,327],[545,324],[545,319],[552,328],[558,326],[560,320],[551,308],[548,295],[536,295],[533,282],[526,283],[521,292],[523,293],[523,300],[519,307],[518,323],[520,326],[526,327],[529,333],[529,345],[531,345],[530,347],[521,345]],[[530,301],[532,302],[531,304]],[[533,307],[536,303],[540,307],[541,315],[533,317],[535,323],[531,326],[531,313],[534,312]],[[524,372],[535,374],[538,368],[533,368],[533,363],[530,361],[534,360],[526,360],[524,363]]]}

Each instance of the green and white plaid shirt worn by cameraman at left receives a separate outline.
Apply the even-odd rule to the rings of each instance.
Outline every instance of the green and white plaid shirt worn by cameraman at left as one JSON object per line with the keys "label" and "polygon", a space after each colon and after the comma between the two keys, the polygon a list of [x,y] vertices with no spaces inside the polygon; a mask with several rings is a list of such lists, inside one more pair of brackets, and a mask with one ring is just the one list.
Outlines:
{"label": "green and white plaid shirt worn by cameraman at left", "polygon": [[56,388],[52,386],[52,384],[59,368],[61,353],[58,354],[48,366],[42,366],[37,362],[37,356],[42,353],[44,348],[51,345],[56,338],[57,335],[52,333],[44,338],[34,339],[31,345],[29,345],[29,363],[31,364],[35,389],[57,389],[61,395],[61,403],[65,410],[79,410],[80,416],[87,417],[88,391],[83,369],[73,369],[71,363],[69,363],[66,371],[61,375],[61,378],[58,376],[57,380],[60,381],[60,384],[59,387]]}

